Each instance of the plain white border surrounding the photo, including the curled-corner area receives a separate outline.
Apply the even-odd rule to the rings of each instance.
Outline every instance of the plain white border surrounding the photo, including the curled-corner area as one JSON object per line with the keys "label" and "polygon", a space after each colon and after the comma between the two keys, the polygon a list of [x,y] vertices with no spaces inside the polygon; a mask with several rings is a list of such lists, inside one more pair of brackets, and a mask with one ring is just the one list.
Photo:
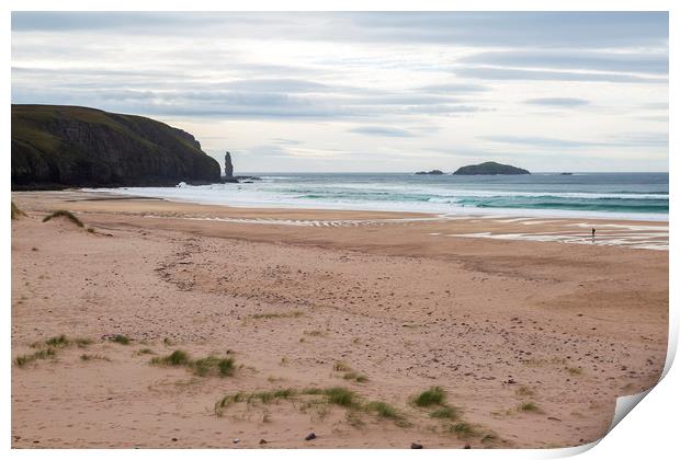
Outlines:
{"label": "plain white border surrounding the photo, including the curled-corner area", "polygon": [[[648,1],[634,1],[634,0],[571,0],[571,1],[539,1],[539,0],[515,0],[511,3],[502,0],[477,0],[475,2],[464,2],[455,0],[419,0],[418,2],[405,1],[405,0],[345,0],[345,1],[326,1],[322,7],[319,8],[320,2],[310,0],[291,0],[286,2],[264,1],[264,0],[249,0],[248,2],[217,2],[211,0],[192,0],[191,2],[174,2],[160,1],[160,0],[118,0],[92,2],[84,0],[64,0],[58,4],[54,1],[15,1],[10,0],[3,2],[3,15],[1,20],[2,24],[2,37],[4,43],[2,46],[2,58],[5,62],[4,67],[4,81],[2,97],[4,102],[4,110],[2,114],[2,139],[4,140],[4,148],[2,149],[2,171],[3,171],[3,191],[5,193],[4,206],[9,207],[10,202],[10,103],[11,103],[11,14],[10,11],[52,11],[57,7],[59,10],[99,10],[99,11],[147,11],[147,10],[160,10],[160,11],[217,11],[217,10],[231,10],[231,11],[317,11],[317,10],[330,10],[330,11],[379,11],[379,10],[398,10],[398,11],[418,11],[418,10],[451,10],[451,11],[670,11],[670,49],[673,49],[673,44],[678,43],[678,26],[680,21],[678,16],[680,14],[677,1],[671,0],[648,0]],[[677,76],[678,72],[678,58],[673,57],[670,53],[670,74]],[[670,96],[670,120],[673,119],[673,97],[677,99],[673,91],[675,79],[669,84]],[[672,122],[669,120],[669,126],[672,126]],[[677,146],[677,134],[672,130],[670,135],[670,151]],[[670,207],[669,222],[670,225],[670,279],[680,279],[678,277],[677,262],[678,253],[675,244],[676,237],[678,235],[676,229],[676,211],[675,211],[675,194],[678,183],[677,160],[672,154],[669,156],[670,162],[670,200],[673,205]],[[2,289],[3,292],[3,331],[5,334],[2,340],[2,365],[5,371],[3,372],[2,386],[2,403],[3,413],[0,418],[0,433],[4,435],[3,444],[7,450],[11,447],[11,411],[10,411],[10,372],[11,372],[11,343],[10,343],[10,296],[11,296],[11,252],[10,252],[10,238],[11,238],[11,223],[9,212],[5,211],[4,225],[2,226],[2,261],[4,263],[2,267]],[[670,285],[670,340],[669,340],[669,360],[667,363],[666,371],[668,371],[666,378],[653,389],[648,396],[635,409],[632,416],[625,417],[608,436],[605,436],[596,448],[588,450],[581,458],[587,459],[639,459],[641,457],[647,459],[656,458],[670,458],[671,452],[677,452],[676,437],[677,437],[677,416],[680,413],[678,391],[680,388],[680,375],[677,369],[670,368],[669,365],[675,356],[678,342],[678,296],[675,285]],[[676,366],[677,368],[677,366]],[[589,447],[576,449],[563,449],[563,450],[422,450],[420,455],[428,456],[430,458],[451,458],[473,456],[475,458],[509,458],[509,459],[528,459],[528,458],[555,458],[568,455],[575,455],[579,451],[587,450]],[[158,455],[162,455],[168,458],[184,458],[188,453],[192,458],[224,458],[225,455],[229,455],[234,458],[271,458],[272,455],[276,457],[291,457],[291,458],[316,458],[319,453],[330,459],[345,459],[348,455],[352,457],[359,456],[361,458],[373,457],[375,455],[388,455],[392,458],[405,458],[407,456],[413,456],[409,450],[241,450],[229,451],[224,450],[192,450],[185,452],[181,450],[12,450],[9,452],[12,457],[16,458],[43,458],[53,456],[68,456],[69,458],[91,458],[97,456],[101,459],[115,459],[121,457],[136,457],[136,458],[156,458]]]}

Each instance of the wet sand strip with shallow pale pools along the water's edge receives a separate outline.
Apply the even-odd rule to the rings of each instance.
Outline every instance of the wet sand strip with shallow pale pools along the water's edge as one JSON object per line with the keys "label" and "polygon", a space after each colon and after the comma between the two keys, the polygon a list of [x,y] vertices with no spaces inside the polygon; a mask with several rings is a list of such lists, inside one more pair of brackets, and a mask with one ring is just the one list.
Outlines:
{"label": "wet sand strip with shallow pale pools along the water's edge", "polygon": [[[107,194],[107,195],[105,195]],[[109,192],[18,192],[18,197],[46,199],[53,210],[59,203],[76,212],[144,215],[146,219],[290,228],[375,227],[421,225],[429,237],[465,238],[668,251],[668,221],[615,218],[536,217],[507,215],[442,215],[430,212],[240,207],[199,204]],[[63,206],[63,207],[64,207]],[[181,226],[181,223],[180,223]],[[591,238],[590,229],[596,229]]]}

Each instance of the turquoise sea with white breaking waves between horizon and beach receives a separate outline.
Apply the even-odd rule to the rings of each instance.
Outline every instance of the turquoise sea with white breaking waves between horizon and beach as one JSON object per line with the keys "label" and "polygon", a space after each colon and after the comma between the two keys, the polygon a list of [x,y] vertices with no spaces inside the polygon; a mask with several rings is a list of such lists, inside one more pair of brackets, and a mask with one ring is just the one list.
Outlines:
{"label": "turquoise sea with white breaking waves between horizon and beach", "polygon": [[668,173],[242,173],[240,184],[88,191],[239,207],[668,220]]}

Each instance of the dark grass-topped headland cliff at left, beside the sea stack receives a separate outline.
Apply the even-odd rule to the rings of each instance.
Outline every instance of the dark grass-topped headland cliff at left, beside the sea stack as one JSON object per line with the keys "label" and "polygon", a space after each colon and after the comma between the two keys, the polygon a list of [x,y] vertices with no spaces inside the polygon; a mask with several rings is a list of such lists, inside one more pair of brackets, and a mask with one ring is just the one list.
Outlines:
{"label": "dark grass-topped headland cliff at left, beside the sea stack", "polygon": [[12,105],[12,189],[219,182],[192,135],[135,115]]}

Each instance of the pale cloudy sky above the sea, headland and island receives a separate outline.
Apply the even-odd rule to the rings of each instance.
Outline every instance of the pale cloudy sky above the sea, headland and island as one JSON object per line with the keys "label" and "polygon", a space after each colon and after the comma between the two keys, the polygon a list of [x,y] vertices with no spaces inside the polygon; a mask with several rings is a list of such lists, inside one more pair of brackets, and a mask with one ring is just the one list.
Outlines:
{"label": "pale cloudy sky above the sea, headland and island", "polygon": [[237,172],[668,171],[668,15],[15,12],[12,102],[160,119]]}

